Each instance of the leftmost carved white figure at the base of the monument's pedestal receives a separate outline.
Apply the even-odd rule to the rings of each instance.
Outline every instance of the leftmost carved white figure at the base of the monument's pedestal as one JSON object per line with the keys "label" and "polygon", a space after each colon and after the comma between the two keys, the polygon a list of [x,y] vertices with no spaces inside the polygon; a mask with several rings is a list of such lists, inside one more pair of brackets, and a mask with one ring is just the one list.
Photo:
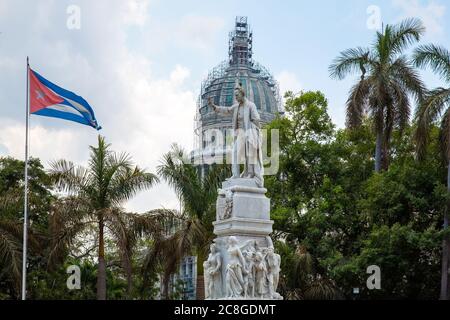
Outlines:
{"label": "leftmost carved white figure at the base of the monument's pedestal", "polygon": [[222,297],[222,257],[213,243],[210,246],[208,260],[203,263],[205,277],[205,298],[217,299]]}

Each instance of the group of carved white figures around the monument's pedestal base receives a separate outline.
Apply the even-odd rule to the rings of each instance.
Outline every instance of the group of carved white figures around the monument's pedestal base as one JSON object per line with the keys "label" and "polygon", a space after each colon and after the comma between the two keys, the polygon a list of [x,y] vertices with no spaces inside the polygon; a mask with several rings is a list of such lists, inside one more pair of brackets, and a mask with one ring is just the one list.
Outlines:
{"label": "group of carved white figures around the monument's pedestal base", "polygon": [[227,240],[227,265],[223,266],[225,282],[222,281],[223,259],[216,245],[204,262],[206,299],[281,299],[276,292],[280,273],[280,255],[269,247],[260,249],[255,240],[239,245],[236,237]]}

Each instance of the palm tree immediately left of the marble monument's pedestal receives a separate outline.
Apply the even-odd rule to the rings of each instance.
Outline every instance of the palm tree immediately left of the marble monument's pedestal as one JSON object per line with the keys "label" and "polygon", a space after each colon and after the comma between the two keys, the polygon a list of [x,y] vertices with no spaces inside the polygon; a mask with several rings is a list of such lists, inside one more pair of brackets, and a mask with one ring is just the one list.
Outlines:
{"label": "palm tree immediately left of the marble monument's pedestal", "polygon": [[172,145],[171,150],[163,156],[158,175],[175,190],[182,212],[172,212],[166,219],[172,231],[155,241],[145,269],[153,270],[156,262],[163,265],[164,297],[168,297],[170,275],[185,256],[192,253],[197,255],[197,271],[199,276],[202,275],[203,261],[213,238],[217,188],[229,173],[228,167],[217,165],[210,166],[202,176],[199,168],[190,164],[186,152],[177,145]]}

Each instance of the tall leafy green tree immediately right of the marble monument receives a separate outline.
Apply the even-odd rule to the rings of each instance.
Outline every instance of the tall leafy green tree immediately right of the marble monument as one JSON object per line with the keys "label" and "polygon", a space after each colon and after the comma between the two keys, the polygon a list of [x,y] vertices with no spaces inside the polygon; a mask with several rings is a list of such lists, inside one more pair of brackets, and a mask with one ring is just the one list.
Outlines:
{"label": "tall leafy green tree immediately right of the marble monument", "polygon": [[[322,269],[317,244],[323,237],[325,216],[317,214],[316,197],[329,175],[339,175],[338,162],[330,148],[335,135],[321,92],[286,94],[286,116],[268,127],[279,130],[280,169],[265,179],[271,198],[274,233],[282,256],[280,290],[290,299],[341,297],[335,283]],[[269,139],[270,140],[270,139]],[[314,221],[309,227],[307,221]]]}

